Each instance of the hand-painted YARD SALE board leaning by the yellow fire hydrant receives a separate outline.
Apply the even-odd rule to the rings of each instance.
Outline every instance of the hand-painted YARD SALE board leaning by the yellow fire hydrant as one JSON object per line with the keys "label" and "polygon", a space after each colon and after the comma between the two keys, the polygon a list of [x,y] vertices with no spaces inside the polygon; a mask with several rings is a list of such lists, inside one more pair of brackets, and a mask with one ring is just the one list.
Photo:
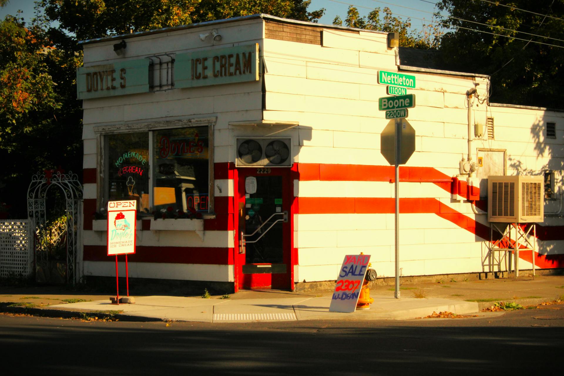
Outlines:
{"label": "hand-painted YARD SALE board leaning by the yellow fire hydrant", "polygon": [[368,269],[370,255],[346,255],[333,291],[332,312],[354,312]]}

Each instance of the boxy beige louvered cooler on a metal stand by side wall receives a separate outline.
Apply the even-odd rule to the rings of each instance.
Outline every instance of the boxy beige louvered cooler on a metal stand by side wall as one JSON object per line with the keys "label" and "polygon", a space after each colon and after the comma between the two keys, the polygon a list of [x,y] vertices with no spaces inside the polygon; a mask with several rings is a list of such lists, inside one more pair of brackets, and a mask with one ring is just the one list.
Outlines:
{"label": "boxy beige louvered cooler on a metal stand by side wall", "polygon": [[544,222],[543,176],[488,176],[488,221]]}

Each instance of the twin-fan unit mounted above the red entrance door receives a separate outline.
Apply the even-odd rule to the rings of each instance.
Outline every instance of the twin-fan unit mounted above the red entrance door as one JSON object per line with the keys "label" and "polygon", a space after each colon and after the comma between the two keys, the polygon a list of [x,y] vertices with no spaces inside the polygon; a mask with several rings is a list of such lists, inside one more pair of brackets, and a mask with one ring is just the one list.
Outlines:
{"label": "twin-fan unit mounted above the red entrance door", "polygon": [[291,138],[237,138],[235,166],[292,166]]}

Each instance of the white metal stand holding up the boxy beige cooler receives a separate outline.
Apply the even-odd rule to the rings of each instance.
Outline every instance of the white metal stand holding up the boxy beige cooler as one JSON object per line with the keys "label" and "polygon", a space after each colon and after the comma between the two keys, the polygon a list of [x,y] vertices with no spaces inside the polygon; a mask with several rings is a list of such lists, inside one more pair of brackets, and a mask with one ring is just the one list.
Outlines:
{"label": "white metal stand holding up the boxy beige cooler", "polygon": [[[503,227],[505,226],[505,227]],[[526,228],[526,227],[525,227]],[[532,230],[532,235],[531,235]],[[501,238],[493,240],[493,232],[499,232]],[[528,225],[527,231],[519,225],[519,223],[490,223],[490,250],[489,263],[490,273],[493,273],[493,267],[497,263],[498,271],[501,271],[501,260],[505,261],[505,270],[511,272],[511,256],[514,254],[515,279],[519,277],[519,252],[531,251],[532,276],[535,278],[535,252],[536,252],[536,224]],[[503,252],[501,256],[497,256],[496,252]],[[509,259],[509,262],[508,262]]]}

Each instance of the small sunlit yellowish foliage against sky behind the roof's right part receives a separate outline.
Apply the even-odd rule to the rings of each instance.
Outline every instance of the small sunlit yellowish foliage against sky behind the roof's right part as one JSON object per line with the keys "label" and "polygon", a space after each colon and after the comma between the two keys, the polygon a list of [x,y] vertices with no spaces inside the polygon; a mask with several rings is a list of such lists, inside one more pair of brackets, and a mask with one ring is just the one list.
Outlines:
{"label": "small sunlit yellowish foliage against sky behind the roof's right part", "polygon": [[[383,19],[381,19],[382,12],[384,14]],[[333,25],[342,26],[342,24],[341,17],[336,16],[333,20]],[[347,10],[345,25],[350,28],[399,33],[400,46],[424,50],[437,48],[441,36],[440,28],[436,24],[424,25],[421,31],[409,30],[411,28],[411,19],[402,20],[401,17],[394,16],[388,7],[384,7],[384,10],[381,10],[380,7],[374,8],[373,11],[369,12],[368,16],[362,17],[358,9],[351,5],[349,10]]]}

